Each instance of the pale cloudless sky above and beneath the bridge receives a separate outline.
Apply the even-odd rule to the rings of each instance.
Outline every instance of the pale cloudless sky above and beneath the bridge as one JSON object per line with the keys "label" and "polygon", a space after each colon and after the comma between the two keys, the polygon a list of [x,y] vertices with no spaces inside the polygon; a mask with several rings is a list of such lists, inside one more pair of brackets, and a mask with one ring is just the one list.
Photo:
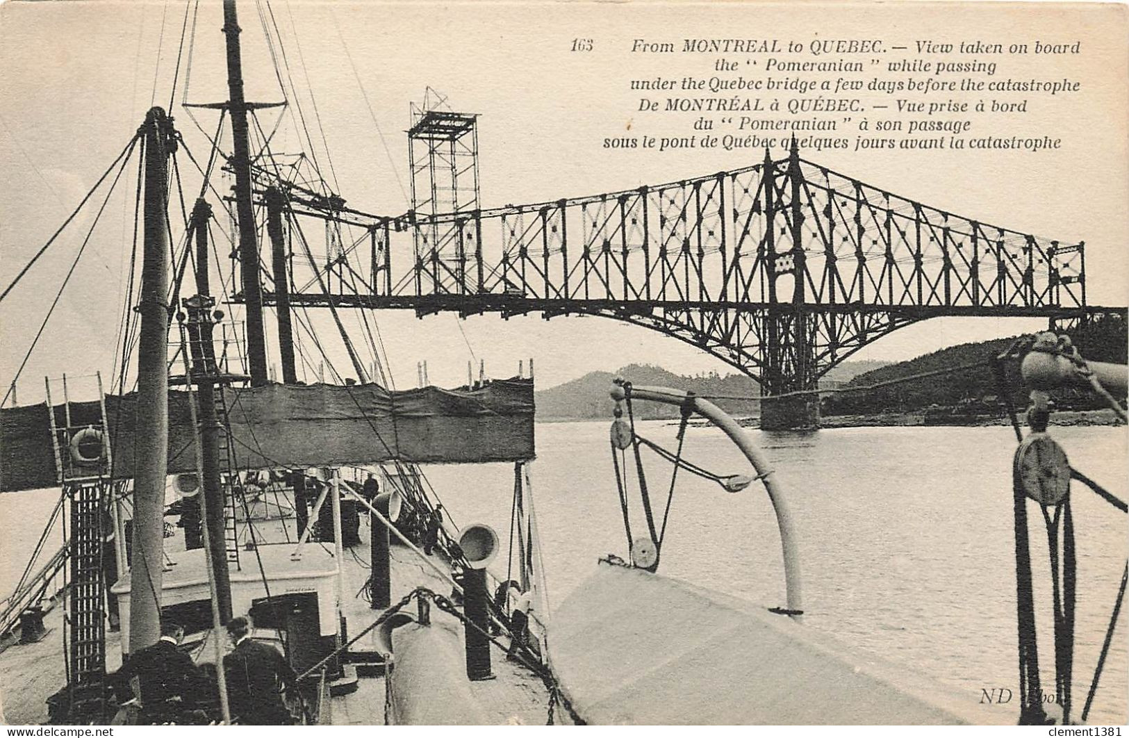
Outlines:
{"label": "pale cloudless sky above and beneath the bridge", "polygon": [[[275,0],[240,3],[247,98],[280,99],[271,64],[280,59],[287,89],[310,131],[322,168],[350,204],[399,214],[409,205],[409,105],[430,87],[452,108],[478,113],[481,195],[485,207],[540,202],[689,178],[759,161],[763,151],[609,151],[605,137],[625,130],[656,135],[684,131],[685,118],[638,112],[631,78],[682,71],[706,74],[702,59],[632,54],[634,38],[779,37],[891,38],[912,43],[1023,39],[1084,41],[1082,54],[1010,59],[1016,78],[1084,80],[1069,98],[1034,99],[1025,115],[997,118],[994,133],[1050,133],[1056,151],[820,151],[807,158],[927,204],[1021,232],[1087,243],[1091,304],[1126,305],[1129,234],[1126,14],[1018,5],[926,3],[877,7],[754,3],[376,3]],[[182,45],[181,2],[68,2],[0,6],[0,282],[7,285],[115,159],[146,109],[173,100],[189,149],[209,143],[183,99],[226,99],[220,7],[201,2]],[[1123,9],[1122,9],[1123,10]],[[942,15],[944,14],[944,15]],[[277,26],[282,49],[264,42]],[[593,38],[590,53],[570,51]],[[1118,42],[1121,42],[1120,44]],[[890,42],[887,42],[890,43]],[[178,60],[180,56],[180,60]],[[708,59],[706,60],[708,61]],[[191,73],[189,73],[191,72]],[[174,77],[176,88],[173,90]],[[292,97],[292,95],[291,95]],[[291,100],[274,139],[282,151],[301,139]],[[192,113],[211,133],[212,111]],[[278,113],[264,112],[264,128]],[[307,146],[307,148],[309,148]],[[326,150],[329,156],[326,156]],[[773,152],[782,157],[784,151]],[[199,176],[178,159],[189,207]],[[133,166],[107,201],[98,228],[23,369],[21,404],[42,398],[43,377],[71,377],[114,362],[129,283]],[[222,182],[220,190],[228,186]],[[102,191],[99,191],[102,192]],[[212,195],[212,204],[215,195]],[[35,339],[79,251],[99,199],[0,304],[0,386],[8,386]],[[174,229],[175,230],[175,229]],[[175,231],[174,236],[176,235]],[[315,234],[317,235],[317,234]],[[222,249],[228,248],[226,241]],[[236,318],[240,308],[229,306]],[[347,324],[357,328],[356,316]],[[732,369],[676,340],[596,317],[504,320],[453,314],[417,319],[410,311],[376,315],[400,387],[415,385],[428,362],[432,384],[465,381],[467,361],[495,377],[535,360],[539,386],[628,363],[684,374]],[[348,361],[327,316],[315,326],[342,374]],[[1042,320],[939,318],[912,325],[855,354],[903,360],[968,341],[1039,330]],[[274,351],[274,330],[268,340]],[[306,378],[315,374],[312,358]],[[277,362],[277,359],[272,361]],[[301,375],[301,372],[299,372]]]}

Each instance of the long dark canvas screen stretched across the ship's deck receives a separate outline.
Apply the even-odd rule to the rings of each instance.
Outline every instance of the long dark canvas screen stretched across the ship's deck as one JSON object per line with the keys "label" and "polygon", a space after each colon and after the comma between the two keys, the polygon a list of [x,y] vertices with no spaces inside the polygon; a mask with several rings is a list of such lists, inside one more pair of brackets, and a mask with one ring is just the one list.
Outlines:
{"label": "long dark canvas screen stretched across the ship's deck", "polygon": [[[534,456],[533,381],[476,389],[266,385],[225,389],[240,468],[516,462]],[[55,422],[64,427],[62,405]],[[71,403],[71,425],[98,421],[97,401]],[[137,395],[107,395],[115,477],[133,476]],[[168,393],[168,473],[195,471],[189,394]],[[65,449],[63,449],[65,450]],[[46,404],[0,410],[0,492],[58,485]]]}

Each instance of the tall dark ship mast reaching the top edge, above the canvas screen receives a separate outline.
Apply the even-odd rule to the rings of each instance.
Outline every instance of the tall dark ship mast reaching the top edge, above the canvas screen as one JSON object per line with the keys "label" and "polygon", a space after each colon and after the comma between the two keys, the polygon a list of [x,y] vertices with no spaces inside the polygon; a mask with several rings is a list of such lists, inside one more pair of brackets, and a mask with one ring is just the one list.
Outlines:
{"label": "tall dark ship mast reaching the top edge, above the canvas screen", "polygon": [[235,172],[235,216],[239,227],[239,264],[246,304],[247,366],[251,370],[251,386],[257,387],[266,384],[266,345],[263,339],[259,237],[255,234],[255,211],[251,199],[251,147],[247,137],[250,106],[243,96],[243,59],[235,0],[224,0],[224,35],[227,37],[227,112],[231,116],[234,141],[228,164]]}

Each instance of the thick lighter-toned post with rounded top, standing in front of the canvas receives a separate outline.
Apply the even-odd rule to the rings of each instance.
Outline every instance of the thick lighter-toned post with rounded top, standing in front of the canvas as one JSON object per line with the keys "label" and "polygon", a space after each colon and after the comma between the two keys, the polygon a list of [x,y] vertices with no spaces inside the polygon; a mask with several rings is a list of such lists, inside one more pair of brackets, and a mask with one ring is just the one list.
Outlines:
{"label": "thick lighter-toned post with rounded top, standing in front of the canvas", "polygon": [[172,122],[154,107],[145,124],[145,241],[138,345],[137,471],[130,569],[130,653],[160,638],[165,481],[168,471],[168,155]]}

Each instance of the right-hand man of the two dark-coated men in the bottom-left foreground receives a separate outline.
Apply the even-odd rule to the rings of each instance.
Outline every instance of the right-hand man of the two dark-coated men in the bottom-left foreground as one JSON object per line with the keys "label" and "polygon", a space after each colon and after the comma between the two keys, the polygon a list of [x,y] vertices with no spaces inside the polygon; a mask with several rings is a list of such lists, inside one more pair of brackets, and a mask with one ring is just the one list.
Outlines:
{"label": "right-hand man of the two dark-coated men in the bottom-left foreground", "polygon": [[227,633],[235,650],[224,657],[231,717],[244,726],[286,726],[294,722],[281,688],[294,688],[297,675],[279,650],[254,641],[246,617],[233,618]]}

